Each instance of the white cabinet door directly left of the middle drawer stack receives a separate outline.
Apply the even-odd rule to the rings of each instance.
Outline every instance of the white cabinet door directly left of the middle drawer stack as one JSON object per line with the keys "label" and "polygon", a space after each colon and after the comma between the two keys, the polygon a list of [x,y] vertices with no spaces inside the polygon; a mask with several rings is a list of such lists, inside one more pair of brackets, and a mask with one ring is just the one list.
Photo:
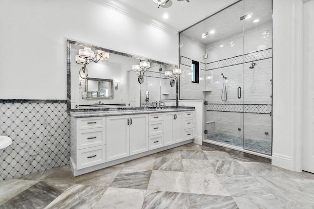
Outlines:
{"label": "white cabinet door directly left of the middle drawer stack", "polygon": [[148,151],[148,114],[130,116],[130,155]]}

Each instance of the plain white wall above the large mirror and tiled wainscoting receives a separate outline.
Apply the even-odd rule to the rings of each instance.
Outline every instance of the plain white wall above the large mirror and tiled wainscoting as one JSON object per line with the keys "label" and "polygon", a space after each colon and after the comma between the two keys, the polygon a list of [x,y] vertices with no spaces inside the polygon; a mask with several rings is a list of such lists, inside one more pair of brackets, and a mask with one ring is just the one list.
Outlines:
{"label": "plain white wall above the large mirror and tiled wainscoting", "polygon": [[90,0],[0,5],[0,98],[66,99],[67,39],[178,64],[177,35]]}

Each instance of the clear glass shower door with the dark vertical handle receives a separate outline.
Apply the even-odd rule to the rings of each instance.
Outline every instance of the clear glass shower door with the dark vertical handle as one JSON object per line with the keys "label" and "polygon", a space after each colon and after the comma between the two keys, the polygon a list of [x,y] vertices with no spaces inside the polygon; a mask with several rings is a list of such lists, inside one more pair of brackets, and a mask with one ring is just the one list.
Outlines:
{"label": "clear glass shower door with the dark vertical handle", "polygon": [[206,20],[205,130],[211,143],[243,147],[243,16],[239,1]]}

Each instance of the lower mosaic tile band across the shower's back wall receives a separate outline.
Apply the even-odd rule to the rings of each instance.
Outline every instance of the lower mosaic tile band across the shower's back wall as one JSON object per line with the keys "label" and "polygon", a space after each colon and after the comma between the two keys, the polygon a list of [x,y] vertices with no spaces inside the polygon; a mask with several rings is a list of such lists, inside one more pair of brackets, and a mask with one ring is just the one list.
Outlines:
{"label": "lower mosaic tile band across the shower's back wall", "polygon": [[[244,111],[243,111],[244,109]],[[234,112],[234,113],[257,113],[270,114],[272,111],[269,104],[208,104],[207,111]]]}

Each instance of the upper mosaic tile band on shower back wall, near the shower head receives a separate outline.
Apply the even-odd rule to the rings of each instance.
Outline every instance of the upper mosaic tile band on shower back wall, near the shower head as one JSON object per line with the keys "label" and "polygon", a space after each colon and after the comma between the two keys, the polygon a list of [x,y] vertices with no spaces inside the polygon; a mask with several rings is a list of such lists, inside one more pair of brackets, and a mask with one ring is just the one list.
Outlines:
{"label": "upper mosaic tile band on shower back wall, near the shower head", "polygon": [[267,48],[261,51],[256,51],[244,55],[239,55],[235,57],[231,57],[228,59],[223,59],[215,62],[211,62],[206,64],[205,68],[206,70],[213,70],[218,68],[224,68],[229,67],[233,65],[258,61],[258,60],[264,60],[272,57],[272,48]]}

